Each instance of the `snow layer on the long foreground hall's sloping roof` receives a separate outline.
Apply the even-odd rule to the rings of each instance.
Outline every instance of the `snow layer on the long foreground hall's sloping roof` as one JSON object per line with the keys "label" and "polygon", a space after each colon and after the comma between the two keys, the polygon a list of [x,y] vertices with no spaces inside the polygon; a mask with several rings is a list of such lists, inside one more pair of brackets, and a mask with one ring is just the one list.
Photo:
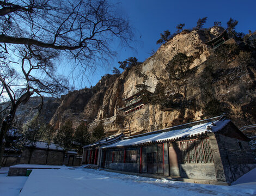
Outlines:
{"label": "snow layer on the long foreground hall's sloping roof", "polygon": [[[216,120],[216,121],[210,121],[210,122],[194,125],[191,127],[170,130],[167,132],[163,132],[164,130],[160,130],[160,131],[156,131],[156,133],[152,132],[152,134],[148,134],[148,135],[144,134],[144,136],[142,134],[140,137],[122,138],[119,142],[113,143],[111,145],[107,145],[103,148],[112,148],[117,146],[130,146],[130,145],[145,144],[150,142],[160,142],[161,140],[178,139],[182,137],[195,136],[197,134],[202,134],[205,132],[217,132],[221,130],[225,125],[227,125],[228,122],[230,122],[230,120]],[[186,124],[186,125],[189,125],[189,124]]]}

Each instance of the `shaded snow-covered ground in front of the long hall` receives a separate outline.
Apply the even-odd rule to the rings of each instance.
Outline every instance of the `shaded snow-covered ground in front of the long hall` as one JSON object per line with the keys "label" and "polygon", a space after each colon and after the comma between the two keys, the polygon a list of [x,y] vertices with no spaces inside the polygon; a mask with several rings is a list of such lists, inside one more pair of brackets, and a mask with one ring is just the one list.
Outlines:
{"label": "shaded snow-covered ground in front of the long hall", "polygon": [[[17,190],[27,179],[27,177],[0,175],[5,175],[0,176],[1,196],[15,195],[9,188],[13,187]],[[19,195],[19,192],[16,193]],[[232,186],[151,179],[94,169],[34,169],[20,193],[20,196],[31,195],[256,195],[256,168],[242,176]]]}

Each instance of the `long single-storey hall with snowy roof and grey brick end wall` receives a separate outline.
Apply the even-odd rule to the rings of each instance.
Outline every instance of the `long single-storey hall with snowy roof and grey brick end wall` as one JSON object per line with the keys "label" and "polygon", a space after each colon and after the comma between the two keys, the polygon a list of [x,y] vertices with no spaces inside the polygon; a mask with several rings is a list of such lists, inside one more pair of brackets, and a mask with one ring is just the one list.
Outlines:
{"label": "long single-storey hall with snowy roof and grey brick end wall", "polygon": [[248,138],[223,116],[101,140],[84,146],[83,162],[126,174],[216,185],[229,185],[256,167]]}

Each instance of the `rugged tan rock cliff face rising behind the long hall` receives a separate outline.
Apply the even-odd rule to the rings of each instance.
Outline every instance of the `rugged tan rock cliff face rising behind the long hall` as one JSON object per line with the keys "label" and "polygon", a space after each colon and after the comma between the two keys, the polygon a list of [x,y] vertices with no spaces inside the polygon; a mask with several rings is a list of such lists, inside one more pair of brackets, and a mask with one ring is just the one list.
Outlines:
{"label": "rugged tan rock cliff face rising behind the long hall", "polygon": [[[210,29],[211,38],[222,30]],[[251,36],[247,40],[250,39]],[[90,119],[94,120],[89,125],[90,130],[103,122],[109,134],[130,131],[137,134],[214,117],[223,112],[239,127],[254,124],[255,47],[242,42],[239,45],[230,39],[225,44],[238,49],[225,57],[204,44],[205,41],[203,30],[184,30],[142,64],[125,70],[119,76],[104,76],[92,89],[63,96],[51,124],[58,128],[65,120],[71,119],[77,126],[79,120]],[[170,77],[166,66],[178,53],[191,56],[193,60],[182,77],[175,79]],[[136,85],[143,83],[139,73],[148,76],[145,83],[148,90],[162,101],[147,104],[141,110],[124,116],[118,108],[125,106],[123,98],[137,93]],[[158,92],[159,89],[162,92]]]}

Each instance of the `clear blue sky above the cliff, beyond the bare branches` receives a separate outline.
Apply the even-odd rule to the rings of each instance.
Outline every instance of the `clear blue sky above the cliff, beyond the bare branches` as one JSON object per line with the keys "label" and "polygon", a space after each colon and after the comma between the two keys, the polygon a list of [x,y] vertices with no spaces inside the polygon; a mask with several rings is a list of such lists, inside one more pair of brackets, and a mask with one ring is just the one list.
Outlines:
{"label": "clear blue sky above the cliff, beyond the bare branches", "polygon": [[167,1],[167,0],[111,0],[118,4],[119,14],[127,17],[135,29],[135,42],[132,48],[117,48],[117,56],[105,68],[96,69],[90,74],[88,81],[81,87],[95,85],[101,76],[112,74],[113,67],[119,66],[118,62],[129,57],[136,57],[140,62],[151,56],[151,51],[156,51],[160,45],[160,33],[164,30],[176,31],[176,25],[185,23],[184,28],[196,26],[199,18],[208,17],[204,27],[211,27],[214,21],[221,21],[222,26],[227,26],[227,21],[232,17],[239,21],[237,32],[248,33],[256,30],[256,0],[225,0],[225,1]]}

